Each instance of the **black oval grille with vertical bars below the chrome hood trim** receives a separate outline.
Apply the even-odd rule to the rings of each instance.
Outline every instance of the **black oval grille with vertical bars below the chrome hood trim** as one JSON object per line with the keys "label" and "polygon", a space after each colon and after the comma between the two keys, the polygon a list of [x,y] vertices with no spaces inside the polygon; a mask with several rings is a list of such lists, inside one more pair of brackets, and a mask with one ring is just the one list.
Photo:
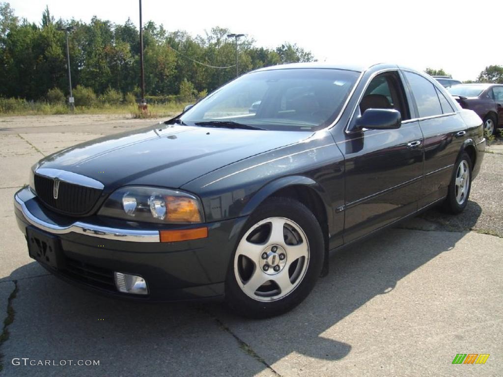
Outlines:
{"label": "black oval grille with vertical bars below the chrome hood trim", "polygon": [[66,215],[82,216],[93,209],[102,190],[59,181],[58,199],[54,199],[54,180],[35,174],[35,191],[49,208]]}

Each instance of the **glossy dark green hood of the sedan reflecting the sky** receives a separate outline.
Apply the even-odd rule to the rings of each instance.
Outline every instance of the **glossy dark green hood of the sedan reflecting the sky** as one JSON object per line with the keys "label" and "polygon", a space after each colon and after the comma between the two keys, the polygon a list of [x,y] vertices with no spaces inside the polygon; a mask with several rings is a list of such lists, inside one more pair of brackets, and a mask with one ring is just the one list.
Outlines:
{"label": "glossy dark green hood of the sedan reflecting the sky", "polygon": [[309,136],[304,131],[161,124],[75,145],[44,158],[39,167],[97,179],[105,191],[127,184],[178,188],[222,166]]}

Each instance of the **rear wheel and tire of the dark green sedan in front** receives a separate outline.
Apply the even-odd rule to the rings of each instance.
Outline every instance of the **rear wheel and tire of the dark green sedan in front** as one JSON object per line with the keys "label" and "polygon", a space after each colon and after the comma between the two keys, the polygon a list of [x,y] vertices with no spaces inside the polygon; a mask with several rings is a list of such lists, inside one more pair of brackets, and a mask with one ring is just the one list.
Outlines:
{"label": "rear wheel and tire of the dark green sedan in front", "polygon": [[465,209],[470,197],[471,172],[471,159],[466,152],[463,152],[454,164],[454,173],[444,202],[447,212],[457,215]]}

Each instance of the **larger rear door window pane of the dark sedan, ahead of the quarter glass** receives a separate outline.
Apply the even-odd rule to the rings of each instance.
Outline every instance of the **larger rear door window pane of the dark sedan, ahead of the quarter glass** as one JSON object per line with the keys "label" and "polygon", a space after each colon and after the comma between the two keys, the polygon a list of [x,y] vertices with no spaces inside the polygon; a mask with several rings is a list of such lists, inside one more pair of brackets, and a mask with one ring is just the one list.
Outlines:
{"label": "larger rear door window pane of the dark sedan, ahead of the quarter glass", "polygon": [[435,86],[418,74],[407,71],[403,73],[412,89],[412,94],[417,104],[417,110],[419,111],[419,117],[442,115],[442,107],[440,106]]}

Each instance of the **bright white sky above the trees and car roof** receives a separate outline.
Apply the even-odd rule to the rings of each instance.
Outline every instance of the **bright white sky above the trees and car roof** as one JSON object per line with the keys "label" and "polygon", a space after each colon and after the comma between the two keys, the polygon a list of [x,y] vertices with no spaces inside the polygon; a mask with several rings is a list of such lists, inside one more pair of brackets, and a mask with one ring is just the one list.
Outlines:
{"label": "bright white sky above the trees and car roof", "polygon": [[[4,0],[6,1],[6,0]],[[57,20],[91,17],[138,24],[138,0],[7,0],[16,15],[40,24],[49,6]],[[397,62],[416,69],[444,68],[475,79],[487,65],[503,65],[495,0],[248,2],[143,0],[143,21],[168,31],[204,35],[214,26],[275,48],[288,41],[319,61]]]}

